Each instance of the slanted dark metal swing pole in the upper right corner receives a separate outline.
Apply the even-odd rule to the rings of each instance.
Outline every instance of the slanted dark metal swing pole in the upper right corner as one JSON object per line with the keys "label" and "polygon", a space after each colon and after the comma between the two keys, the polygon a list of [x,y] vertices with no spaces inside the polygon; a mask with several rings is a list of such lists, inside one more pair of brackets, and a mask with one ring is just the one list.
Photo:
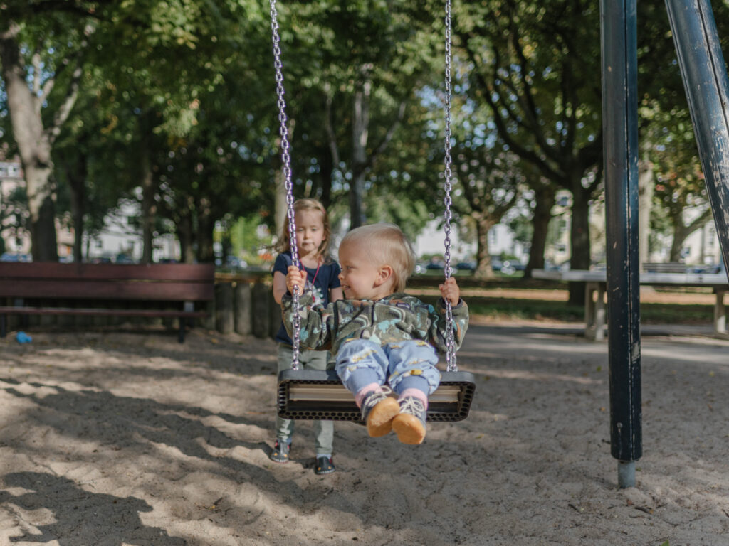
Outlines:
{"label": "slanted dark metal swing pole in the upper right corner", "polygon": [[666,0],[706,192],[729,265],[729,78],[708,0]]}

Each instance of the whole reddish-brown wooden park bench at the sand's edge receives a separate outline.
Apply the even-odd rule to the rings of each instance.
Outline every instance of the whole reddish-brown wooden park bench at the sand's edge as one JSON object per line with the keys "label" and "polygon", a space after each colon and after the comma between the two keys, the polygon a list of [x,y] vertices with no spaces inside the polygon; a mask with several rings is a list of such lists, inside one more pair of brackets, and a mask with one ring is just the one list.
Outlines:
{"label": "whole reddish-brown wooden park bench at the sand's edge", "polygon": [[[0,337],[7,315],[87,315],[179,319],[179,342],[195,309],[214,299],[212,264],[0,262]],[[3,305],[3,300],[7,304]]]}

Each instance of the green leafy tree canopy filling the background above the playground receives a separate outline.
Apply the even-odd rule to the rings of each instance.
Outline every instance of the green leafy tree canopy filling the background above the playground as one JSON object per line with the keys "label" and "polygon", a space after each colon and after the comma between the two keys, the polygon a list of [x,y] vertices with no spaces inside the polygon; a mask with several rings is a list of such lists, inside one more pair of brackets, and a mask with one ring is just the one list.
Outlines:
{"label": "green leafy tree canopy filling the background above the playground", "polygon": [[[714,11],[725,45],[729,9]],[[443,210],[443,3],[286,1],[278,17],[295,197],[415,237]],[[703,181],[665,9],[640,3],[639,19],[642,157],[678,244],[695,226],[682,210],[707,207]],[[572,267],[590,265],[599,23],[587,0],[453,7],[453,209],[483,242],[484,274],[485,234],[524,199],[543,258],[557,189],[573,197]],[[7,0],[0,74],[0,139],[23,162],[36,259],[56,258],[66,212],[80,259],[81,233],[120,198],[139,203],[147,261],[163,229],[184,259],[208,261],[217,221],[257,216],[273,230],[278,212],[280,227],[265,3]]]}

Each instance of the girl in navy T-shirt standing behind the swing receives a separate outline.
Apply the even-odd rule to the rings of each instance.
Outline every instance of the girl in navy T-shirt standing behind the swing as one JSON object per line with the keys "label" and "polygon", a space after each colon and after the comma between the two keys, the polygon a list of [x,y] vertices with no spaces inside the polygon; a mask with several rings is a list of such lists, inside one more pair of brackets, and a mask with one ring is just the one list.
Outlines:
{"label": "girl in navy T-shirt standing behind the swing", "polygon": [[[339,264],[332,260],[329,250],[332,229],[329,215],[324,205],[316,199],[299,199],[294,203],[294,220],[296,223],[296,244],[299,250],[299,261],[306,272],[304,293],[311,294],[314,304],[327,306],[330,301],[343,298],[339,282]],[[273,264],[273,298],[281,304],[287,293],[286,272],[293,265],[289,222],[284,222],[284,231],[278,240],[276,250],[278,256]],[[278,341],[278,371],[291,369],[293,358],[292,340],[286,333],[284,324],[276,333]],[[299,362],[304,369],[326,370],[329,353],[327,351],[301,351]],[[332,461],[332,443],[334,440],[334,423],[332,421],[315,421],[316,435],[316,474],[331,474],[335,471]],[[294,433],[294,422],[290,419],[276,417],[276,443],[270,459],[275,462],[288,462],[291,449],[291,438]]]}

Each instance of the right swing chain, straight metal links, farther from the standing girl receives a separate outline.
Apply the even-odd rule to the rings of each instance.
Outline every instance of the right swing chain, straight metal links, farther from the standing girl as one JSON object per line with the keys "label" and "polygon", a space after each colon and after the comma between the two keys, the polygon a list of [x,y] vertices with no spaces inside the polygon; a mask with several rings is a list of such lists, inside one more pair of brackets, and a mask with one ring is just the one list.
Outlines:
{"label": "right swing chain, straight metal links, farther from the standing girl", "polygon": [[[451,278],[451,0],[445,0],[445,279]],[[445,362],[447,371],[458,371],[456,341],[453,339],[453,309],[445,300]]]}

